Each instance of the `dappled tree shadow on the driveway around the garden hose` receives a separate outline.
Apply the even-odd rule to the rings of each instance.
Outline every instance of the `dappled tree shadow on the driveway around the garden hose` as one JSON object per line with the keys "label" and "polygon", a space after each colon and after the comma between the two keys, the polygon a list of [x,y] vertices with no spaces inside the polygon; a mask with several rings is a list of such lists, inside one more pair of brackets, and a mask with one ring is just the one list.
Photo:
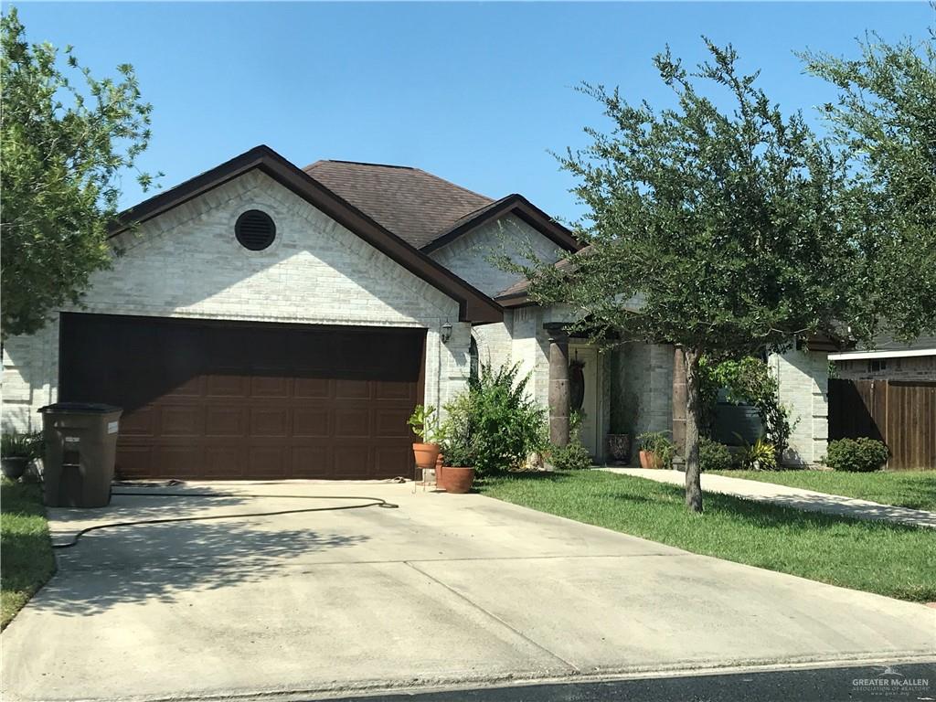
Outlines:
{"label": "dappled tree shadow on the driveway around the garden hose", "polygon": [[34,600],[33,607],[86,616],[117,605],[172,603],[182,592],[281,577],[282,571],[302,555],[351,547],[370,538],[311,529],[285,530],[277,528],[273,521],[280,518],[246,516],[328,506],[308,500],[272,504],[240,496],[114,498],[118,499],[120,502],[106,511],[55,510],[53,542],[70,541],[77,531],[95,524],[238,513],[245,516],[140,524],[85,534],[77,546],[56,551],[59,572]]}

